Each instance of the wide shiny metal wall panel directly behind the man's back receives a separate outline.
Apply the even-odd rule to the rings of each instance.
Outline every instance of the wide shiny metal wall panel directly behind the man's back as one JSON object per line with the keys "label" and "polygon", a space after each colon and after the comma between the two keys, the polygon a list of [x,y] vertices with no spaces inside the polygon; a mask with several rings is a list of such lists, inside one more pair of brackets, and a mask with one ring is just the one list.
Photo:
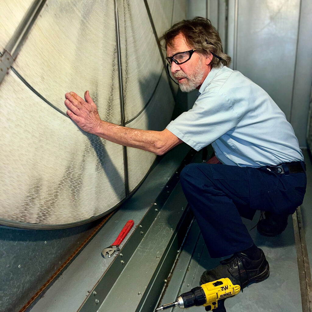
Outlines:
{"label": "wide shiny metal wall panel directly behind the man's back", "polygon": [[300,0],[239,0],[234,69],[260,85],[290,120]]}

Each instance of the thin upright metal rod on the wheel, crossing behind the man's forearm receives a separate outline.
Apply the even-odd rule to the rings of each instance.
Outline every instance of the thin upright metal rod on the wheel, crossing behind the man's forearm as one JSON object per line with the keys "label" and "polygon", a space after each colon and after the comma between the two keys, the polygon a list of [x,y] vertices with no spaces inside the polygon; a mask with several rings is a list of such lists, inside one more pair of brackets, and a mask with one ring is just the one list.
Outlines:
{"label": "thin upright metal rod on the wheel, crossing behind the man's forearm", "polygon": [[[119,99],[120,99],[120,113],[121,113],[121,125],[125,126],[124,118],[124,90],[122,84],[122,71],[121,71],[121,54],[120,54],[120,37],[119,37],[119,19],[118,19],[118,2],[114,1],[115,11],[115,29],[116,29],[116,48],[117,48],[117,66],[118,66],[118,81],[119,81]],[[123,157],[124,157],[124,186],[126,197],[129,195],[129,175],[128,175],[128,156],[127,147],[123,146]]]}

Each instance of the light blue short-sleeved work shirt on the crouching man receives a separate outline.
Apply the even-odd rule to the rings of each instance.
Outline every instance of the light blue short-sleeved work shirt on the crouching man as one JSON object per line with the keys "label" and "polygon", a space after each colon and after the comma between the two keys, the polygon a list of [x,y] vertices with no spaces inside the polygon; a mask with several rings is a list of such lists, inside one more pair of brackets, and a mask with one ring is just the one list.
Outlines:
{"label": "light blue short-sleeved work shirt on the crouching man", "polygon": [[213,68],[199,92],[193,108],[166,127],[197,151],[212,143],[222,163],[240,167],[303,160],[285,114],[239,71]]}

